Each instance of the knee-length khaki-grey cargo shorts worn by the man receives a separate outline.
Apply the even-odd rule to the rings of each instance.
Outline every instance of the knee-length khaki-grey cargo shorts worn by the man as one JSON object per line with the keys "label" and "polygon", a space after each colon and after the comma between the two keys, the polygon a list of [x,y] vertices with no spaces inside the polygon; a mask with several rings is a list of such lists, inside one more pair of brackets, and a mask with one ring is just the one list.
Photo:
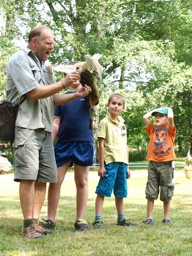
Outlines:
{"label": "knee-length khaki-grey cargo shorts worn by the man", "polygon": [[15,127],[12,144],[14,181],[57,182],[57,166],[51,132]]}

